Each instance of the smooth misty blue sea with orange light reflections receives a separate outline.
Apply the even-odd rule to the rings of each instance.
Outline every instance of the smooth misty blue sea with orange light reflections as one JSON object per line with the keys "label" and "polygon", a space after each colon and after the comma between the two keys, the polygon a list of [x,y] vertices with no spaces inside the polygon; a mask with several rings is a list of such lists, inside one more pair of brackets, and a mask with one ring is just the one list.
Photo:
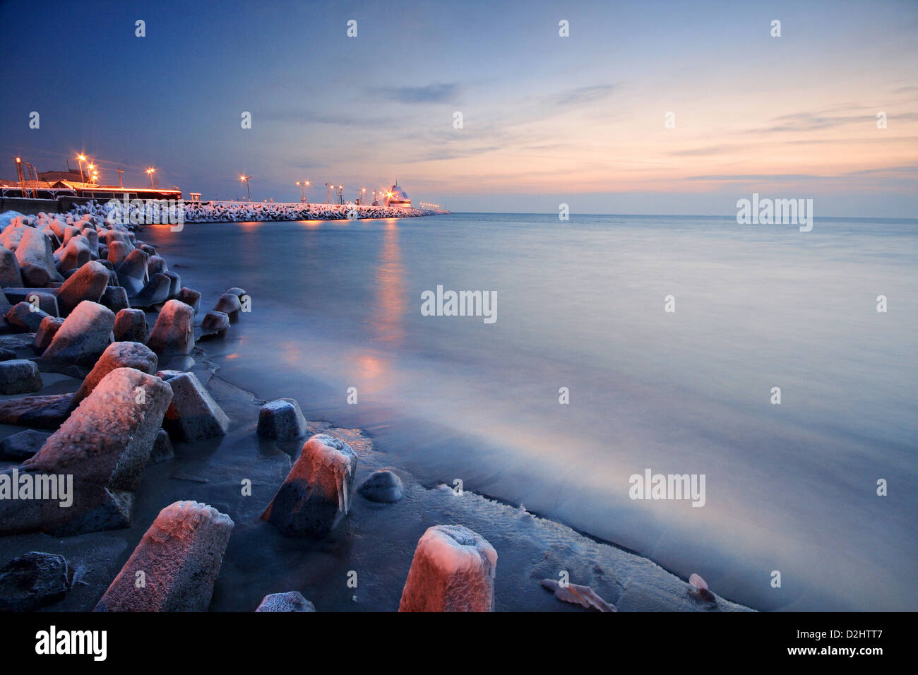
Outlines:
{"label": "smooth misty blue sea with orange light reflections", "polygon": [[[918,610],[918,221],[454,214],[141,236],[205,309],[252,296],[205,347],[222,376],[368,430],[431,484],[761,609]],[[497,322],[422,316],[438,285],[496,291]],[[630,500],[645,468],[705,474],[706,505]]]}

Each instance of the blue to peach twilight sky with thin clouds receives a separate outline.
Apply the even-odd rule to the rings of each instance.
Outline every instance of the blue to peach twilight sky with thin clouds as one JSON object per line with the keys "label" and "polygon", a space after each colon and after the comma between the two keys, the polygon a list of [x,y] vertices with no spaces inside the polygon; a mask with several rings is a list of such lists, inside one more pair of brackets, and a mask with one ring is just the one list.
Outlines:
{"label": "blue to peach twilight sky with thin clouds", "polygon": [[7,179],[84,152],[203,199],[247,174],[256,200],[397,179],[453,211],[918,217],[915,0],[6,0],[0,55]]}

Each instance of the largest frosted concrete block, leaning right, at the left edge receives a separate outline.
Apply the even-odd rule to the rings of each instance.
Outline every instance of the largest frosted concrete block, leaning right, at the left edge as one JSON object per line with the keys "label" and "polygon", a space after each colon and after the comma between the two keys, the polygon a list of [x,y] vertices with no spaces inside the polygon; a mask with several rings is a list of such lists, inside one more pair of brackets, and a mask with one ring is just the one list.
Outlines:
{"label": "largest frosted concrete block, leaning right, at the left edge", "polygon": [[[159,377],[133,368],[106,375],[35,456],[0,471],[17,472],[20,482],[26,474],[52,476],[58,489],[57,500],[0,500],[0,535],[128,527],[133,492],[171,401],[172,390]],[[70,483],[67,495],[62,481]]]}

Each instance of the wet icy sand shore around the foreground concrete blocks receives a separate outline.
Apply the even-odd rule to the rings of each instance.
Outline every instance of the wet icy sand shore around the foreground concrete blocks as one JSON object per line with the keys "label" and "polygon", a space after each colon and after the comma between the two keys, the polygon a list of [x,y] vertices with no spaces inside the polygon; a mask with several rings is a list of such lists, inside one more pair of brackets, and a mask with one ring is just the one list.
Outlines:
{"label": "wet icy sand shore around the foreground concrete blocks", "polygon": [[[196,278],[194,267],[185,272],[188,281],[193,282],[191,287],[202,281]],[[196,335],[210,299],[202,298],[195,312]],[[243,315],[227,330],[235,332],[239,322],[245,322]],[[20,332],[3,336],[2,343],[14,347],[18,356],[26,353],[29,338],[31,333]],[[331,433],[352,445],[359,456],[355,487],[369,472],[388,467],[390,457],[375,449],[372,434],[338,428],[333,421],[310,421],[306,435],[289,442],[261,438],[254,433],[255,406],[263,403],[258,392],[219,375],[221,368],[211,360],[206,344],[196,344],[177,361],[163,359],[158,367],[161,371],[179,367],[196,374],[228,416],[228,429],[215,438],[176,441],[172,459],[148,465],[127,528],[65,537],[40,533],[0,537],[4,552],[0,564],[30,550],[62,554],[71,561],[76,582],[64,600],[50,605],[50,611],[92,609],[157,513],[181,500],[210,504],[228,513],[235,523],[210,611],[252,611],[264,595],[294,590],[301,591],[320,612],[393,611],[420,534],[431,525],[452,523],[465,524],[497,550],[498,611],[582,611],[540,586],[540,579],[557,579],[559,570],[569,573],[571,583],[590,586],[620,611],[750,610],[720,597],[714,603],[700,601],[685,579],[650,558],[486,495],[468,490],[457,494],[443,484],[426,487],[402,467],[395,467],[405,485],[401,501],[379,504],[354,495],[348,517],[328,536],[320,540],[286,538],[258,515],[284,481],[299,446],[312,433]],[[79,386],[79,377],[54,376],[35,395],[66,394]],[[16,397],[3,397],[11,398]],[[9,435],[6,425],[3,430]],[[0,471],[8,468],[5,463]],[[242,476],[252,481],[251,496],[240,495]],[[360,575],[356,591],[346,584],[349,570]]]}

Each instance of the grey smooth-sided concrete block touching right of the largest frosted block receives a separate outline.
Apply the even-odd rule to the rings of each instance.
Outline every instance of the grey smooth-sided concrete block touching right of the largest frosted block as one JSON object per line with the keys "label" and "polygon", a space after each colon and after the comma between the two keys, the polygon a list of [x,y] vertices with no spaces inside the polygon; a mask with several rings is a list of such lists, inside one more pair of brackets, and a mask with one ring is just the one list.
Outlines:
{"label": "grey smooth-sided concrete block touching right of the largest frosted block", "polygon": [[229,417],[211,398],[194,373],[161,370],[173,390],[173,401],[166,411],[162,428],[176,441],[199,441],[222,436],[229,431]]}

